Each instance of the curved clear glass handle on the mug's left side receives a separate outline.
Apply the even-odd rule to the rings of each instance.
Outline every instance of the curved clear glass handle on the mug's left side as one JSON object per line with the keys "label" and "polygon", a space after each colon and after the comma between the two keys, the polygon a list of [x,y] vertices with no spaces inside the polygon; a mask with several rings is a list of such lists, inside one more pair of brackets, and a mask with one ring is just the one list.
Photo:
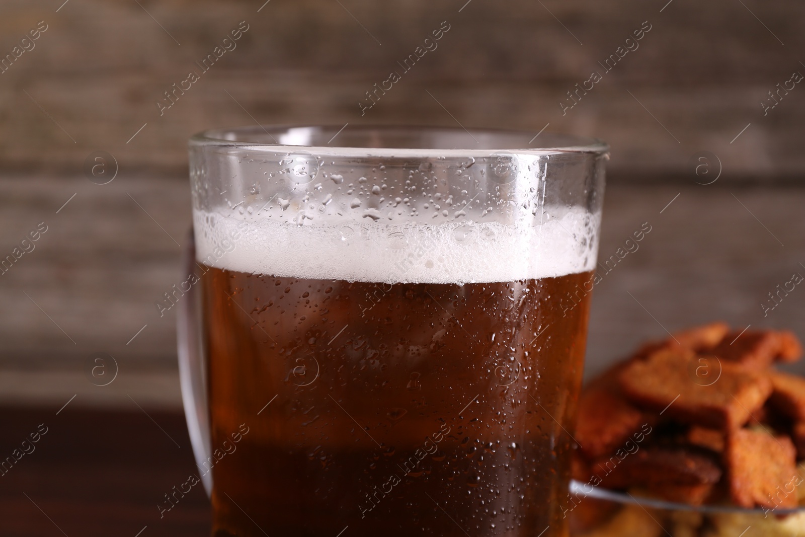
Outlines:
{"label": "curved clear glass handle on the mug's left side", "polygon": [[[184,274],[196,274],[196,242],[193,230],[188,233],[188,246],[182,257]],[[212,456],[209,436],[209,415],[207,406],[207,368],[204,363],[204,345],[201,339],[200,291],[196,284],[185,291],[179,302],[176,316],[176,342],[179,353],[179,382],[182,388],[184,417],[188,420],[190,443],[196,466],[204,468],[204,463]],[[213,490],[213,473],[200,472],[201,482],[207,495]]]}

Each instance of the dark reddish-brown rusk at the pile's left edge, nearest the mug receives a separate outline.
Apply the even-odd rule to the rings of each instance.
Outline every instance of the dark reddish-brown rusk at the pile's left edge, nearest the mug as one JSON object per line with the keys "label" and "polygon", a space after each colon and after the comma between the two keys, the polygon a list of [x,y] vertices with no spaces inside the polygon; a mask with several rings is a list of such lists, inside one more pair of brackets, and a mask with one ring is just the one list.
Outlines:
{"label": "dark reddish-brown rusk at the pile's left edge, nearest the mug", "polygon": [[584,390],[576,418],[576,441],[588,459],[608,455],[637,431],[646,416],[616,391],[604,386]]}

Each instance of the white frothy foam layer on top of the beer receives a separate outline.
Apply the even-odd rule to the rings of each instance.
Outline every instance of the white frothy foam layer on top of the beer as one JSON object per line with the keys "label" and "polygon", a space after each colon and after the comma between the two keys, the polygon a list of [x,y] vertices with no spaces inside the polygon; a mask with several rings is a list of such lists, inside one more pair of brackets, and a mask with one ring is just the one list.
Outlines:
{"label": "white frothy foam layer on top of the beer", "polygon": [[345,221],[300,227],[194,210],[193,222],[197,260],[230,271],[376,283],[493,283],[592,271],[601,213],[563,209],[541,225]]}

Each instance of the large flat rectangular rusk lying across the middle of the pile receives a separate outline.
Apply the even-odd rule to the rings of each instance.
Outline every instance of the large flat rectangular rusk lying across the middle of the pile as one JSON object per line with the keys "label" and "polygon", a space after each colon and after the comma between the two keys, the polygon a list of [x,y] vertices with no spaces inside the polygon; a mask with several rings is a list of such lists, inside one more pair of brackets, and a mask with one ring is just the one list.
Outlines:
{"label": "large flat rectangular rusk lying across the middle of the pile", "polygon": [[635,361],[620,375],[627,399],[683,423],[739,428],[771,393],[765,374],[691,351],[663,349]]}

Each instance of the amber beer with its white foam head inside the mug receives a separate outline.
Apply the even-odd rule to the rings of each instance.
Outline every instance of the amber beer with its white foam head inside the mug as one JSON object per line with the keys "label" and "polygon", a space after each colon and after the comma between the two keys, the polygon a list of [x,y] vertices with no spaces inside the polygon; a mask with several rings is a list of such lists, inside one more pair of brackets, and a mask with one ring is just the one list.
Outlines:
{"label": "amber beer with its white foam head inside the mug", "polygon": [[249,428],[212,469],[213,535],[566,535],[595,259],[565,247],[576,216],[539,232],[539,270],[493,225],[200,248],[212,448]]}

